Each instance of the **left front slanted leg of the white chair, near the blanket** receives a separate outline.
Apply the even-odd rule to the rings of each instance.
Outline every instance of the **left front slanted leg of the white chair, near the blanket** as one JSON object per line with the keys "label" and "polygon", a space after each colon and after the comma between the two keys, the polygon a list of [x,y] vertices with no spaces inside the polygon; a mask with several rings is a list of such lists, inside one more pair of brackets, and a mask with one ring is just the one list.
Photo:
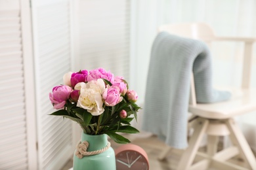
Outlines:
{"label": "left front slanted leg of the white chair, near the blanket", "polygon": [[198,119],[198,125],[194,129],[194,133],[188,142],[188,148],[184,151],[179,161],[178,170],[186,170],[192,165],[196,152],[200,146],[200,142],[203,139],[203,134],[205,133],[209,120]]}

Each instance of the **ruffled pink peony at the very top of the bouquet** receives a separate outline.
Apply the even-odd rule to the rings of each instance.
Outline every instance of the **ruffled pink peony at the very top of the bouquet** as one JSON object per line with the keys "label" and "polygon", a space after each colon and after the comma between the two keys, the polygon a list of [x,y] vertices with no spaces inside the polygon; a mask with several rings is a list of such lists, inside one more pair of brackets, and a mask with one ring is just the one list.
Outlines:
{"label": "ruffled pink peony at the very top of the bouquet", "polygon": [[110,71],[106,72],[102,68],[89,71],[89,75],[87,76],[87,82],[91,80],[97,80],[98,78],[104,78],[110,81],[112,84],[114,83],[114,75]]}

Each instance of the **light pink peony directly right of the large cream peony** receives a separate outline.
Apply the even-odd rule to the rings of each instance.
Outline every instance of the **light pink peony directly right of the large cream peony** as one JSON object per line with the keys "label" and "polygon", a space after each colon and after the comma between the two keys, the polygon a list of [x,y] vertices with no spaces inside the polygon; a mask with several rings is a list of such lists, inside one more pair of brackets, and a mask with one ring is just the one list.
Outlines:
{"label": "light pink peony directly right of the large cream peony", "polygon": [[105,105],[107,106],[114,106],[123,99],[123,97],[120,97],[119,88],[115,86],[109,86],[106,88],[102,94],[102,98],[104,99]]}

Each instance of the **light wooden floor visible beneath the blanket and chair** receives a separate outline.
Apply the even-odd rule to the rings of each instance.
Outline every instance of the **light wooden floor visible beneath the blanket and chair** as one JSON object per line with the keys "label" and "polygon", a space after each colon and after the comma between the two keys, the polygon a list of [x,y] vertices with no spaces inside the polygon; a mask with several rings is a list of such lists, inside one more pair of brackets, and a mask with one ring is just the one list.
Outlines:
{"label": "light wooden floor visible beneath the blanket and chair", "polygon": [[[142,147],[146,153],[148,154],[148,159],[150,162],[150,170],[174,170],[177,167],[179,159],[182,154],[182,150],[175,150],[172,149],[171,152],[168,154],[167,158],[163,161],[158,160],[158,156],[162,152],[162,150],[166,147],[166,145],[160,141],[156,136],[149,136],[149,137],[140,137],[136,136],[126,136],[131,143],[137,144],[138,146]],[[110,141],[112,144],[112,148],[117,148],[121,144],[114,143]],[[204,148],[200,148],[200,150],[204,150]],[[234,160],[233,160],[234,161]],[[63,167],[62,170],[70,169],[72,165],[72,160],[68,161],[66,165]],[[237,161],[238,164],[241,162]]]}

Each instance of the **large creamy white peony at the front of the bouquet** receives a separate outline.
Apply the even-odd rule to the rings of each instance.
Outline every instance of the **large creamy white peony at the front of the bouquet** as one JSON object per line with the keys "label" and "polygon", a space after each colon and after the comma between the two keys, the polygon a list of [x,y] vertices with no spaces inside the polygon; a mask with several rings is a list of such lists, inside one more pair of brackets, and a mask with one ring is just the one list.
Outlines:
{"label": "large creamy white peony at the front of the bouquet", "polygon": [[98,116],[104,112],[101,95],[105,90],[105,83],[101,78],[92,80],[87,84],[81,83],[77,88],[81,88],[77,107],[87,109],[93,116]]}

